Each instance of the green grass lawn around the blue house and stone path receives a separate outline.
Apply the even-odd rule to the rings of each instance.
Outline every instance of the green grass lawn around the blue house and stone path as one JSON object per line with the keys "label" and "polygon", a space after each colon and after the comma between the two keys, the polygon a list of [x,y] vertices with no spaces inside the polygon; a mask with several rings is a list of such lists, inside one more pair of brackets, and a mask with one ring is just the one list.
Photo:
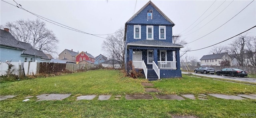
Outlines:
{"label": "green grass lawn around the blue house and stone path", "polygon": [[[170,118],[170,114],[193,115],[199,118],[240,118],[241,113],[256,113],[256,100],[126,100],[125,94],[148,94],[144,79],[124,77],[118,70],[92,70],[0,83],[0,95],[18,95],[0,102],[0,118]],[[151,82],[158,94],[256,94],[256,86],[216,81],[183,75],[180,79]],[[63,93],[72,95],[64,100],[39,101],[36,95]],[[89,94],[110,94],[110,100],[78,100]],[[150,93],[154,96],[157,93]],[[22,102],[25,96],[34,96]],[[114,100],[114,95],[122,95]]]}

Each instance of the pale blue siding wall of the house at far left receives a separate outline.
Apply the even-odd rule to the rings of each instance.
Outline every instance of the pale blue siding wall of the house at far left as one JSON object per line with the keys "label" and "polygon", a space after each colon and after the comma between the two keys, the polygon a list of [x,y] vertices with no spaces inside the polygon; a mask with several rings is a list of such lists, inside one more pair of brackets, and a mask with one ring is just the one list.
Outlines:
{"label": "pale blue siding wall of the house at far left", "polygon": [[24,58],[20,56],[20,54],[22,54],[22,50],[0,47],[0,62],[6,62],[6,60],[12,62],[23,62]]}

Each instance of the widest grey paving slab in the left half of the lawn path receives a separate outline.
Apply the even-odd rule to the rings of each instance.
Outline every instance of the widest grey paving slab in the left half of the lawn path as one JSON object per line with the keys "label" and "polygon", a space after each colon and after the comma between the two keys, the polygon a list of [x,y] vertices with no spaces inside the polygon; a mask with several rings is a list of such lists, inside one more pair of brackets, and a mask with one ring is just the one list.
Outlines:
{"label": "widest grey paving slab in the left half of the lawn path", "polygon": [[63,100],[65,98],[68,98],[71,94],[42,94],[39,96],[36,96],[36,101],[42,101],[42,100]]}

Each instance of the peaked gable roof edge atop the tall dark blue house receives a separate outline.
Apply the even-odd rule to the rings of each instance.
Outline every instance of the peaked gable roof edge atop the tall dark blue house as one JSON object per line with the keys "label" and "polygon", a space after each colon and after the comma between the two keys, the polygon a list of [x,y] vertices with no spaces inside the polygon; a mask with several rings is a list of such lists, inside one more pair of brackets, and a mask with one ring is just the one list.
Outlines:
{"label": "peaked gable roof edge atop the tall dark blue house", "polygon": [[175,25],[172,20],[170,20],[153,2],[149,1],[147,4],[145,4],[136,14],[132,16],[126,23],[130,22],[132,19],[134,19],[142,10],[144,10],[148,5],[152,5],[168,22]]}

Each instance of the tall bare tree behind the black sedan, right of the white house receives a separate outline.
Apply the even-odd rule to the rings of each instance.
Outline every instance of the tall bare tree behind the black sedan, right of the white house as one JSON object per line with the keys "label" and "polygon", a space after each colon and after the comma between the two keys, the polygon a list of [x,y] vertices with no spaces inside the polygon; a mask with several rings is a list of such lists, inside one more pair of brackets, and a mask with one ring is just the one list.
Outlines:
{"label": "tall bare tree behind the black sedan, right of the white house", "polygon": [[248,43],[248,36],[246,34],[240,35],[230,44],[230,53],[234,55],[239,66],[246,66],[244,58],[246,53],[246,44]]}

